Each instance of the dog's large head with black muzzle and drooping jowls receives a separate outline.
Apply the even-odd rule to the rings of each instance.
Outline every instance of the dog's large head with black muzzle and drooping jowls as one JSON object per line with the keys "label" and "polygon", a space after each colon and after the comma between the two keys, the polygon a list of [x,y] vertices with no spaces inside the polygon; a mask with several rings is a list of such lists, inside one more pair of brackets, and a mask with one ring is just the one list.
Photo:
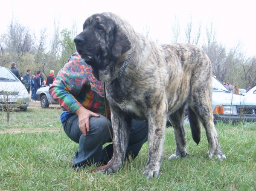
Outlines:
{"label": "dog's large head with black muzzle and drooping jowls", "polygon": [[93,14],[85,20],[83,31],[74,42],[81,58],[93,68],[96,79],[113,80],[111,68],[131,49],[131,33],[132,27],[113,13]]}

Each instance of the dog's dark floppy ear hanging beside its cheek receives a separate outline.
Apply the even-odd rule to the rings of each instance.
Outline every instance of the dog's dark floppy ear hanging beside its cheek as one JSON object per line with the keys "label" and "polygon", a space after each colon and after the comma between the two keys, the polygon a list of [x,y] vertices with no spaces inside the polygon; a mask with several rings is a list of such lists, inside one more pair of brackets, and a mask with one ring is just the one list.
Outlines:
{"label": "dog's dark floppy ear hanging beside its cheek", "polygon": [[114,35],[114,45],[112,48],[112,54],[118,58],[125,52],[131,49],[131,42],[126,35],[126,31],[123,28],[119,28]]}

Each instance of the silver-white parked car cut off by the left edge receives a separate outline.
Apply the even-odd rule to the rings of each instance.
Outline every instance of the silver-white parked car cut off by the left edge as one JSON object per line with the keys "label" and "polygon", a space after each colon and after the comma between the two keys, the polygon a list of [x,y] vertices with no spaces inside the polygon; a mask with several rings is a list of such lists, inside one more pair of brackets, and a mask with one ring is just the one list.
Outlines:
{"label": "silver-white parked car cut off by the left edge", "polygon": [[9,108],[26,111],[29,94],[25,86],[9,69],[0,66],[0,109]]}

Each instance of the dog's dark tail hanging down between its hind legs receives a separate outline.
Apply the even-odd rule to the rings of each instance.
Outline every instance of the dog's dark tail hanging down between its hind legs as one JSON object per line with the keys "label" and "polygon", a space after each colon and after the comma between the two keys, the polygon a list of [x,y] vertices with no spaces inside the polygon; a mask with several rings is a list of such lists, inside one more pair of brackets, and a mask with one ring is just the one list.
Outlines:
{"label": "dog's dark tail hanging down between its hind legs", "polygon": [[193,140],[196,144],[199,144],[201,139],[201,122],[198,116],[190,107],[188,108],[188,117]]}

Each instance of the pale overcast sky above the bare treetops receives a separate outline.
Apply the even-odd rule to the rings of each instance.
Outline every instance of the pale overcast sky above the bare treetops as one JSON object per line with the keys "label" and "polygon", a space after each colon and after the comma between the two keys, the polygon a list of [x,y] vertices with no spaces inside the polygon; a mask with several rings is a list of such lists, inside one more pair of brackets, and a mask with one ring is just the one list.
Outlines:
{"label": "pale overcast sky above the bare treetops", "polygon": [[181,32],[192,17],[194,30],[201,22],[205,34],[206,25],[213,22],[218,42],[230,48],[241,41],[248,56],[256,55],[256,0],[0,0],[0,4],[0,34],[12,17],[35,33],[44,27],[51,33],[54,20],[60,30],[71,29],[76,21],[80,32],[87,17],[108,11],[125,17],[135,31],[149,30],[152,40],[171,43],[175,16]]}

